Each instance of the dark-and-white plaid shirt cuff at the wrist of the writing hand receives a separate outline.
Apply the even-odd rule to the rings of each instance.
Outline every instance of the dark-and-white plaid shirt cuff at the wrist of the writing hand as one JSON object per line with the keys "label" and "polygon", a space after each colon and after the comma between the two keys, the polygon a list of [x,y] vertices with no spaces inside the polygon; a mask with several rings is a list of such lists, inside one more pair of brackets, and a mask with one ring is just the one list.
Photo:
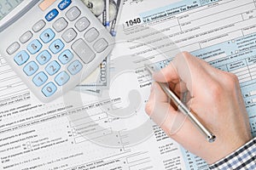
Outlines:
{"label": "dark-and-white plaid shirt cuff at the wrist of the writing hand", "polygon": [[255,170],[256,169],[256,138],[247,142],[220,161],[209,166],[210,169],[236,169],[236,170]]}

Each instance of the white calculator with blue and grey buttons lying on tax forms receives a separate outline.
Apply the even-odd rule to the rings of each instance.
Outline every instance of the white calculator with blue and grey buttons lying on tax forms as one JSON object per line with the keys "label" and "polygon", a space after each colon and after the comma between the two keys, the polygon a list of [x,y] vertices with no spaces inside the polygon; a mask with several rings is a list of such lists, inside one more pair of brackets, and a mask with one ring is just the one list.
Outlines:
{"label": "white calculator with blue and grey buttons lying on tax forms", "polygon": [[74,88],[113,48],[81,0],[1,0],[0,54],[43,102]]}

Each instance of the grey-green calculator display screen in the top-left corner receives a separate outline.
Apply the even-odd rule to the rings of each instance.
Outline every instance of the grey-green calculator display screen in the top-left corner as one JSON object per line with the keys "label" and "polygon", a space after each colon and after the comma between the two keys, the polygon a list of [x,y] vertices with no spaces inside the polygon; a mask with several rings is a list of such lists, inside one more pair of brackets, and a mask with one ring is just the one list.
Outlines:
{"label": "grey-green calculator display screen in the top-left corner", "polygon": [[17,7],[23,0],[1,0],[0,1],[0,20],[9,14],[15,7]]}

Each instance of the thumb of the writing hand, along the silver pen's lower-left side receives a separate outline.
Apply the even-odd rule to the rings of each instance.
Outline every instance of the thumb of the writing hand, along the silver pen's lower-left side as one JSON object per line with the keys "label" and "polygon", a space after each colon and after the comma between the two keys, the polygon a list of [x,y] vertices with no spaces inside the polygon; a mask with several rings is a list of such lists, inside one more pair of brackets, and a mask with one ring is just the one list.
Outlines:
{"label": "thumb of the writing hand, along the silver pen's lower-left side", "polygon": [[[187,144],[183,141],[189,141],[188,134],[192,134],[197,138],[197,129],[189,122],[181,112],[175,111],[166,99],[166,95],[161,90],[160,86],[154,84],[154,88],[148,98],[146,111],[152,120],[158,124],[172,139],[177,140],[182,144]],[[159,102],[160,100],[164,102]],[[189,135],[191,136],[191,135]],[[190,141],[191,142],[191,141]],[[192,141],[193,142],[193,141]]]}

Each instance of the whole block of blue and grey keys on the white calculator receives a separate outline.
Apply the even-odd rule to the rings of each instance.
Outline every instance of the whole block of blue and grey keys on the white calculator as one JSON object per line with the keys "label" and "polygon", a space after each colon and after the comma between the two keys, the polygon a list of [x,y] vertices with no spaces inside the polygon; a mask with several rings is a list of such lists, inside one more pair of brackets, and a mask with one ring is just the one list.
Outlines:
{"label": "whole block of blue and grey keys on the white calculator", "polygon": [[[73,6],[65,14],[59,14],[71,3],[71,0],[62,0],[57,8],[45,15],[46,22],[38,20],[31,31],[18,37],[19,42],[13,42],[6,49],[10,55],[16,53],[15,64],[22,67],[24,74],[31,77],[32,84],[39,87],[45,97],[55,94],[59,87],[82,71],[84,64],[95,59],[96,53],[108,47],[100,32],[90,26],[90,20],[80,16],[82,12],[78,7]],[[79,34],[84,37],[77,38]],[[26,48],[18,51],[21,46]]]}

